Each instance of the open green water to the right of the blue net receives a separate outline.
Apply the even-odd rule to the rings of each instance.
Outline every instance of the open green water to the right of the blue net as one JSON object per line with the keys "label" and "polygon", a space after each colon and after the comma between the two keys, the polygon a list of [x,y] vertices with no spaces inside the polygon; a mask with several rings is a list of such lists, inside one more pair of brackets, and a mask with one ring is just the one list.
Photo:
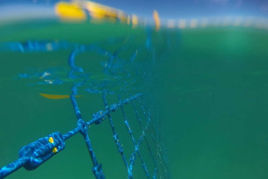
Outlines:
{"label": "open green water to the right of the blue net", "polygon": [[181,32],[159,79],[172,178],[267,178],[267,38]]}

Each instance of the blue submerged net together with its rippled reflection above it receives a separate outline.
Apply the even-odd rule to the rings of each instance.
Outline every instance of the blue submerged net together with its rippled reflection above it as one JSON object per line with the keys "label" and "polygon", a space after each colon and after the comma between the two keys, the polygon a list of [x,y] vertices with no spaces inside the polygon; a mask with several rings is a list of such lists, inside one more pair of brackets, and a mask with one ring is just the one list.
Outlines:
{"label": "blue submerged net together with its rippled reflection above it", "polygon": [[[17,80],[25,80],[28,86],[38,86],[40,90],[49,85],[62,85],[63,88],[67,88],[68,95],[62,97],[52,95],[58,94],[53,90],[50,90],[51,94],[41,95],[50,99],[70,98],[77,117],[77,127],[68,133],[54,132],[22,147],[19,151],[20,158],[0,169],[0,178],[20,167],[27,170],[36,169],[67,147],[65,140],[77,133],[81,133],[85,139],[95,178],[105,178],[105,169],[103,171],[94,153],[94,150],[98,149],[90,143],[88,127],[93,124],[99,125],[106,117],[113,133],[111,139],[115,141],[127,169],[127,178],[135,178],[134,164],[141,164],[145,178],[170,178],[160,115],[150,98],[155,61],[157,58],[164,58],[165,54],[157,54],[161,53],[161,50],[152,45],[150,28],[141,31],[142,35],[112,37],[90,44],[35,39],[0,43],[2,54],[17,54],[22,56],[21,59],[29,59],[30,67],[19,73],[16,76]],[[159,34],[158,37],[162,38],[161,35],[163,34]],[[23,63],[28,66],[27,62]],[[86,93],[103,94],[105,110],[94,113],[92,120],[82,118],[76,102],[77,95]],[[108,104],[107,94],[117,94],[118,102]],[[122,100],[122,94],[130,96]],[[120,141],[121,132],[116,130],[114,121],[119,121],[118,115],[113,117],[116,111],[122,112],[121,122],[124,122],[127,130],[125,132],[129,135],[128,140],[132,143],[127,147],[127,154],[123,147],[125,145]],[[134,123],[137,123],[138,128],[132,127]],[[121,136],[125,137],[124,134]]]}

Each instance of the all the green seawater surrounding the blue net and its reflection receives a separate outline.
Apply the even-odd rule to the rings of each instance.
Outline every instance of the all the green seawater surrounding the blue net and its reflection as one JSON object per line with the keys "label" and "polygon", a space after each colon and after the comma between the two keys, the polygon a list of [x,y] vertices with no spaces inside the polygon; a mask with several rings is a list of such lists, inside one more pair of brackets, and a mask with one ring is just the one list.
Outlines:
{"label": "all the green seawater surrounding the blue net and its reflection", "polygon": [[[132,29],[110,23],[39,21],[2,25],[0,32],[0,42],[57,39],[90,44],[101,41],[101,46],[110,51],[118,48],[105,44],[110,37],[123,39],[123,43],[133,35],[135,40],[131,41],[130,48],[139,45],[145,48],[147,39],[145,27]],[[152,86],[144,85],[145,79],[136,79],[135,86],[143,86],[157,106],[155,111],[164,126],[171,178],[267,178],[267,31],[231,27],[162,29],[152,32],[151,40],[155,64],[144,66],[151,69],[148,83]],[[122,45],[120,43],[117,45]],[[67,66],[69,53],[64,50],[28,54],[1,52],[0,167],[16,160],[22,146],[52,132],[64,134],[75,128],[76,116],[70,99],[51,100],[38,94],[71,94],[71,85],[29,86],[27,84],[36,81],[17,78],[18,74],[26,73],[27,68]],[[122,58],[129,56],[128,51],[121,54]],[[142,62],[145,58],[146,54],[142,54],[137,60]],[[98,59],[83,61],[81,65],[101,73],[96,70],[101,68]],[[84,119],[91,119],[93,113],[104,110],[102,94],[79,89],[79,94],[84,96],[77,98],[77,103]],[[118,88],[114,91],[121,92]],[[129,89],[129,92],[140,92],[140,89]],[[127,94],[122,95],[126,97]],[[118,101],[117,95],[107,95],[107,98],[109,104]],[[132,130],[140,131],[133,109],[129,107],[126,112],[132,113],[128,119],[133,121]],[[115,128],[128,160],[133,145],[122,115],[115,114],[113,118],[117,119]],[[108,120],[92,125],[89,137],[105,177],[127,178]],[[145,145],[141,145],[141,152],[145,162],[148,161],[151,175],[154,167]],[[141,162],[136,160],[133,177],[146,178]],[[62,152],[36,170],[22,168],[7,178],[94,178],[91,167],[83,138],[77,134],[66,141]]]}

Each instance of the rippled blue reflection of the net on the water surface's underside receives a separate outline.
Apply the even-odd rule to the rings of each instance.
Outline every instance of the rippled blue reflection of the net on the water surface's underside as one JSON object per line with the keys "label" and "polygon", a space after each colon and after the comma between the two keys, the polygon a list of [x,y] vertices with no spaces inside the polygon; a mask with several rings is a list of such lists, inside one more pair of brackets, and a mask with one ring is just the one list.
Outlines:
{"label": "rippled blue reflection of the net on the water surface's underside", "polygon": [[[91,45],[54,40],[8,42],[0,44],[0,47],[1,51],[22,52],[23,55],[28,54],[27,57],[33,53],[50,53],[51,59],[61,65],[25,69],[26,73],[18,74],[18,78],[29,79],[28,85],[72,84],[73,92],[81,87],[89,93],[110,94],[125,93],[127,89],[141,92],[142,89],[151,88],[155,49],[146,48],[146,45],[142,47],[131,36],[110,38],[104,43]],[[54,57],[53,51],[59,54]],[[44,63],[45,66],[48,63]]]}

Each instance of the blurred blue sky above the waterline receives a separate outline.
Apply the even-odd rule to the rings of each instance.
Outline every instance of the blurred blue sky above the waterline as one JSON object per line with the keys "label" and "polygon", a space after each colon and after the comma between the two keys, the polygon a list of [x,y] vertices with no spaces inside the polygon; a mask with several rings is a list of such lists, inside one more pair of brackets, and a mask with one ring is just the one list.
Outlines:
{"label": "blurred blue sky above the waterline", "polygon": [[[10,3],[53,5],[56,0],[1,0],[0,8]],[[33,3],[36,2],[36,3]],[[95,2],[151,17],[156,9],[160,18],[179,19],[211,16],[268,17],[268,0],[95,0]]]}

